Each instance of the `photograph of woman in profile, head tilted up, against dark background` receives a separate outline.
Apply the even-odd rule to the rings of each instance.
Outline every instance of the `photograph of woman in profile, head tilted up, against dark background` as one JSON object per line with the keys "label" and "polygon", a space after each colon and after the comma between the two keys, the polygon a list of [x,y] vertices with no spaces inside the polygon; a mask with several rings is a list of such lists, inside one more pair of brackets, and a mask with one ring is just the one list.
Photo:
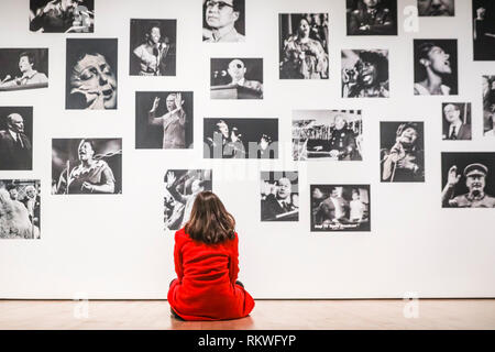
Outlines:
{"label": "photograph of woman in profile, head tilted up, against dark background", "polygon": [[416,96],[458,95],[458,41],[414,40]]}

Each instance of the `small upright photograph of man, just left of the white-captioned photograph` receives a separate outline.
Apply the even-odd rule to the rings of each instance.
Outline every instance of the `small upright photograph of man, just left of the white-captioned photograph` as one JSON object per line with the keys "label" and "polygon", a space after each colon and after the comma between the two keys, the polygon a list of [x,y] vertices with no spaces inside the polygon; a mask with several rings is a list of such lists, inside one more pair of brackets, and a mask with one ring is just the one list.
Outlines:
{"label": "small upright photograph of man, just left of the white-captioned photograph", "polygon": [[261,221],[299,221],[297,172],[261,173]]}

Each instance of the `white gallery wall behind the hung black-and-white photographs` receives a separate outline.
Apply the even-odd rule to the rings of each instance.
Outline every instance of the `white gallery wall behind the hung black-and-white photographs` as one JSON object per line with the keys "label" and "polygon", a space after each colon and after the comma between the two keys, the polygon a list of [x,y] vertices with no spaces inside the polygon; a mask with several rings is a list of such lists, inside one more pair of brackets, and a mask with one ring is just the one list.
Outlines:
{"label": "white gallery wall behind the hung black-and-white photographs", "polygon": [[[0,106],[33,107],[33,169],[41,179],[40,240],[0,241],[0,298],[166,298],[174,232],[163,223],[167,169],[212,168],[213,191],[235,217],[240,279],[254,298],[495,296],[495,209],[441,207],[441,153],[494,152],[483,136],[482,76],[473,62],[471,1],[453,18],[420,18],[397,36],[348,36],[344,0],[246,0],[245,43],[201,41],[200,0],[96,0],[95,33],[29,31],[29,0],[1,0],[0,48],[47,47],[50,86],[0,92]],[[329,79],[278,78],[278,14],[328,13]],[[174,77],[129,76],[130,20],[177,20]],[[118,109],[65,110],[67,37],[118,38]],[[458,41],[459,95],[414,96],[414,38]],[[389,98],[341,98],[341,51],[388,50]],[[211,100],[211,57],[262,57],[264,99]],[[194,91],[191,150],[135,148],[135,91]],[[472,103],[472,141],[442,141],[442,102]],[[362,110],[362,162],[293,162],[293,110]],[[278,160],[204,160],[204,118],[275,118]],[[380,122],[424,121],[425,183],[381,183]],[[253,122],[254,123],[254,122]],[[122,194],[54,196],[52,139],[121,138]],[[299,172],[299,221],[260,221],[260,172]],[[495,172],[495,170],[493,170]],[[495,182],[495,174],[490,175]],[[371,186],[370,232],[310,232],[312,184]]]}

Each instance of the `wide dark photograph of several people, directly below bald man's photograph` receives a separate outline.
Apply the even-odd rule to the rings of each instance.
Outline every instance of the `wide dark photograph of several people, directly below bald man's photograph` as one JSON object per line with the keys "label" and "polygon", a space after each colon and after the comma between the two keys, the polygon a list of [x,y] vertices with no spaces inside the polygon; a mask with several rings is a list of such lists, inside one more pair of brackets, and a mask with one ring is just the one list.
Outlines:
{"label": "wide dark photograph of several people, directly below bald man's photograph", "polygon": [[277,119],[205,119],[205,158],[278,158]]}

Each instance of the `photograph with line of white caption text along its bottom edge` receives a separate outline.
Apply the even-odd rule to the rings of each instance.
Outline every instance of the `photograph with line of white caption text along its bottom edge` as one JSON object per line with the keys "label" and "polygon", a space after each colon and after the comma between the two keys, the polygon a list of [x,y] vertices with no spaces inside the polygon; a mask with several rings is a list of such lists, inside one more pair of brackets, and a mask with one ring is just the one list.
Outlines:
{"label": "photograph with line of white caption text along its bottom edge", "polygon": [[311,231],[371,231],[370,185],[310,185]]}

